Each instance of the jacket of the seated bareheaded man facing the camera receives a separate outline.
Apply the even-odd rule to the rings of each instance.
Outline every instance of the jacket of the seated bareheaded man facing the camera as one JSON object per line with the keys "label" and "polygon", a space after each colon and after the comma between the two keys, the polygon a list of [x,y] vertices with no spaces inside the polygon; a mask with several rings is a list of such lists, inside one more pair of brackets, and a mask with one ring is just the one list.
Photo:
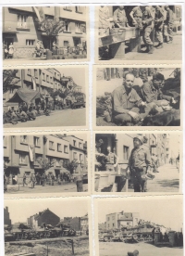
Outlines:
{"label": "jacket of the seated bareheaded man facing the camera", "polygon": [[127,95],[125,86],[117,87],[112,93],[113,114],[128,113],[133,107],[140,107],[142,98],[134,89]]}

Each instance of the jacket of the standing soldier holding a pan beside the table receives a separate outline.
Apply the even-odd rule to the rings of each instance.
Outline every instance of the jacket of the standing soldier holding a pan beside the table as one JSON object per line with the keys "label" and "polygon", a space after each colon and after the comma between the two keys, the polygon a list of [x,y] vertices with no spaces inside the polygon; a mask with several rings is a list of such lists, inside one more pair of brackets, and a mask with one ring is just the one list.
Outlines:
{"label": "jacket of the standing soldier holding a pan beside the table", "polygon": [[149,150],[143,146],[139,148],[133,148],[129,157],[129,168],[133,170],[134,168],[148,167],[151,166],[151,155]]}

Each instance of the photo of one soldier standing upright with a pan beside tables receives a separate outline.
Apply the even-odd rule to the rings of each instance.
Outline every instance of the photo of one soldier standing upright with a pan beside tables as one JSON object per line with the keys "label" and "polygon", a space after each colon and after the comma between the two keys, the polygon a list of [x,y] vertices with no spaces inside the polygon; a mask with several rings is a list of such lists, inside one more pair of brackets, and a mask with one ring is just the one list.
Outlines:
{"label": "photo of one soldier standing upright with a pan beside tables", "polygon": [[179,132],[104,132],[94,140],[95,192],[180,192]]}

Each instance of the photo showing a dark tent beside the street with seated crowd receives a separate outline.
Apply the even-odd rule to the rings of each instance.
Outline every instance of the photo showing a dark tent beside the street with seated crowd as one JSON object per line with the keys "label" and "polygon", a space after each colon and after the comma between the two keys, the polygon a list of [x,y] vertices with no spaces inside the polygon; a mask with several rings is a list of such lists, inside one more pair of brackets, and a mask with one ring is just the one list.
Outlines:
{"label": "photo showing a dark tent beside the street with seated crowd", "polygon": [[4,128],[86,127],[87,76],[86,66],[3,70]]}

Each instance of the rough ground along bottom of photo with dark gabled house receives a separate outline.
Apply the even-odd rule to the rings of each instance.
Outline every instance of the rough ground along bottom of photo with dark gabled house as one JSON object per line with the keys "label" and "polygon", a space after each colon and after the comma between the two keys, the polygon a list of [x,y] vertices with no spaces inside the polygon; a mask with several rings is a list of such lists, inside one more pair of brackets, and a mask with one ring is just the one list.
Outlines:
{"label": "rough ground along bottom of photo with dark gabled house", "polygon": [[[89,238],[72,237],[76,256],[89,256]],[[47,254],[48,244],[48,254]],[[5,244],[5,255],[13,256],[17,253],[35,253],[36,256],[69,256],[72,255],[71,244],[64,238],[46,239],[46,241],[17,242]]]}

